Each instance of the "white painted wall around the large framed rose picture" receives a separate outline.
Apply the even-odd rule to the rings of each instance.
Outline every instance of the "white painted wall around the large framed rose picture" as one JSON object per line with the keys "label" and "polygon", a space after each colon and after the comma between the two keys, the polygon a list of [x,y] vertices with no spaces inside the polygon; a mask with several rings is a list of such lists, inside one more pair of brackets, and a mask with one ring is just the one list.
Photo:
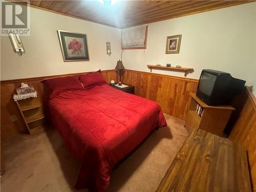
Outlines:
{"label": "white painted wall around the large framed rose picture", "polygon": [[[1,80],[114,69],[121,53],[121,32],[85,20],[31,8],[30,36],[22,37],[26,53],[13,52],[1,36]],[[86,33],[90,61],[64,62],[57,30]],[[106,55],[106,41],[112,55]]]}

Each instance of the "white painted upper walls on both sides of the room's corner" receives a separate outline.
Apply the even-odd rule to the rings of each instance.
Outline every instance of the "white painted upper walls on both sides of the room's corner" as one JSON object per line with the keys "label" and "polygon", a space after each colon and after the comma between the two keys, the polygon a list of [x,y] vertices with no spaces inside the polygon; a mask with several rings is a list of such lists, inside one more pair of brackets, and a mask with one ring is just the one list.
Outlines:
{"label": "white painted upper walls on both sides of the room's corner", "polygon": [[[146,50],[125,50],[126,69],[149,72],[146,65],[172,63],[215,69],[245,79],[256,95],[256,3],[188,15],[149,24]],[[57,29],[87,33],[90,61],[63,62]],[[165,54],[166,36],[182,34],[179,54]],[[1,80],[114,69],[120,58],[119,29],[31,8],[31,36],[22,37],[26,53],[13,52],[8,36],[1,36]],[[112,55],[106,55],[106,41]],[[183,76],[183,73],[153,70]]]}

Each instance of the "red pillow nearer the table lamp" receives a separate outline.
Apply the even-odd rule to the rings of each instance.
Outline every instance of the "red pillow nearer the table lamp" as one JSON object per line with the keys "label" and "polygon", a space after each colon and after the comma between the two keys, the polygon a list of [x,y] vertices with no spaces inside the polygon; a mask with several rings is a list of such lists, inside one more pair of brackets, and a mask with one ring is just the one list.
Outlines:
{"label": "red pillow nearer the table lamp", "polygon": [[106,81],[100,70],[93,73],[88,73],[86,75],[81,75],[79,76],[79,80],[81,81],[84,89],[92,89],[96,86],[106,84]]}

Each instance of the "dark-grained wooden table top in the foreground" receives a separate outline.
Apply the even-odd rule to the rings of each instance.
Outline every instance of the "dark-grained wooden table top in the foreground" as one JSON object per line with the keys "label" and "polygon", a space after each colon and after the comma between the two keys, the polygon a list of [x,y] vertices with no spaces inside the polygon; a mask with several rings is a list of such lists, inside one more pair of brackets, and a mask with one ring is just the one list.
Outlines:
{"label": "dark-grained wooden table top in the foreground", "polygon": [[246,151],[228,139],[196,129],[156,191],[252,191]]}

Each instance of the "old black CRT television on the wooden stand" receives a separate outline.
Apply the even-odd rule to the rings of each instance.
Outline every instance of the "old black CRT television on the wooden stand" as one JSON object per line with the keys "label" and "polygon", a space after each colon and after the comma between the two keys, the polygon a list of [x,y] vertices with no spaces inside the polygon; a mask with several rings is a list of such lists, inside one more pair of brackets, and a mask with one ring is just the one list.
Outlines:
{"label": "old black CRT television on the wooden stand", "polygon": [[208,105],[228,105],[242,91],[244,84],[244,80],[233,78],[229,73],[204,69],[200,75],[197,96]]}

